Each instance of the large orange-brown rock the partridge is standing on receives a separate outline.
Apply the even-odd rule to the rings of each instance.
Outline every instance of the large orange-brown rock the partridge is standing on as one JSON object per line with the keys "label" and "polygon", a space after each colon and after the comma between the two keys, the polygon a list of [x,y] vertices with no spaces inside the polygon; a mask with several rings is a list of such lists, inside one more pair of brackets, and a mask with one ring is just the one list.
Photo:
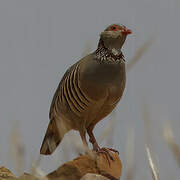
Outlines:
{"label": "large orange-brown rock the partridge is standing on", "polygon": [[107,160],[107,157],[100,153],[82,155],[73,161],[69,161],[57,170],[47,175],[49,179],[58,180],[79,180],[87,173],[103,175],[110,180],[118,180],[121,176],[122,164],[117,153],[110,152],[114,160]]}

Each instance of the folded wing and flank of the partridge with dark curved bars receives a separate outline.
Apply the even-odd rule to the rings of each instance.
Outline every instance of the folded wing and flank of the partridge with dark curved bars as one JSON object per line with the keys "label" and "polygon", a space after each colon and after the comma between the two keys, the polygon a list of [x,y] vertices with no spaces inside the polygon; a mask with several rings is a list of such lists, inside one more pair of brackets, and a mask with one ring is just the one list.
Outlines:
{"label": "folded wing and flank of the partridge with dark curved bars", "polygon": [[82,116],[82,112],[85,111],[89,101],[83,94],[79,87],[79,66],[80,62],[71,66],[64,74],[60,81],[58,88],[53,97],[49,118],[54,118],[55,113],[58,113],[60,108],[64,106],[73,112],[77,116]]}

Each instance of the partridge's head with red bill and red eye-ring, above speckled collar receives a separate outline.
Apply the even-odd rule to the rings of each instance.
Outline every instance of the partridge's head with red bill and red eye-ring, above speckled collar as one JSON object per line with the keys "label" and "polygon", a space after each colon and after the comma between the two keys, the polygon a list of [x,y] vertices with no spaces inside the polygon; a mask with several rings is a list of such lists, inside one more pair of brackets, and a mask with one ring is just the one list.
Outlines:
{"label": "partridge's head with red bill and red eye-ring, above speckled collar", "polygon": [[106,48],[120,52],[127,35],[131,33],[132,31],[124,25],[112,24],[100,34],[100,40]]}

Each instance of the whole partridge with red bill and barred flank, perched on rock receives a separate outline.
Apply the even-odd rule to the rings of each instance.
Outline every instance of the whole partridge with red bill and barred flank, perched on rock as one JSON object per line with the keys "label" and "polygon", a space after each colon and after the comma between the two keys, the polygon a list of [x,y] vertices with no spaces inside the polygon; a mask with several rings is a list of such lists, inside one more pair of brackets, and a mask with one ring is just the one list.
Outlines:
{"label": "whole partridge with red bill and barred flank, perched on rock", "polygon": [[88,147],[88,134],[93,151],[106,151],[98,145],[93,129],[123,95],[126,64],[122,46],[131,33],[124,25],[109,25],[100,33],[97,49],[67,69],[52,99],[40,154],[52,154],[70,130],[79,131],[84,146]]}

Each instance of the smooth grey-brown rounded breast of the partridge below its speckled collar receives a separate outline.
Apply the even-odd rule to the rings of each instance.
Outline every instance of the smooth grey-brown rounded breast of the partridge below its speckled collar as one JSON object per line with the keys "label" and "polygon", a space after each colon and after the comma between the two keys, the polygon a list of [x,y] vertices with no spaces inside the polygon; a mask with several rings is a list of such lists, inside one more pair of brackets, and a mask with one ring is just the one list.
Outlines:
{"label": "smooth grey-brown rounded breast of the partridge below its speckled collar", "polygon": [[125,64],[107,64],[87,59],[80,73],[80,85],[83,91],[95,100],[107,96],[110,86],[120,88],[125,78]]}

